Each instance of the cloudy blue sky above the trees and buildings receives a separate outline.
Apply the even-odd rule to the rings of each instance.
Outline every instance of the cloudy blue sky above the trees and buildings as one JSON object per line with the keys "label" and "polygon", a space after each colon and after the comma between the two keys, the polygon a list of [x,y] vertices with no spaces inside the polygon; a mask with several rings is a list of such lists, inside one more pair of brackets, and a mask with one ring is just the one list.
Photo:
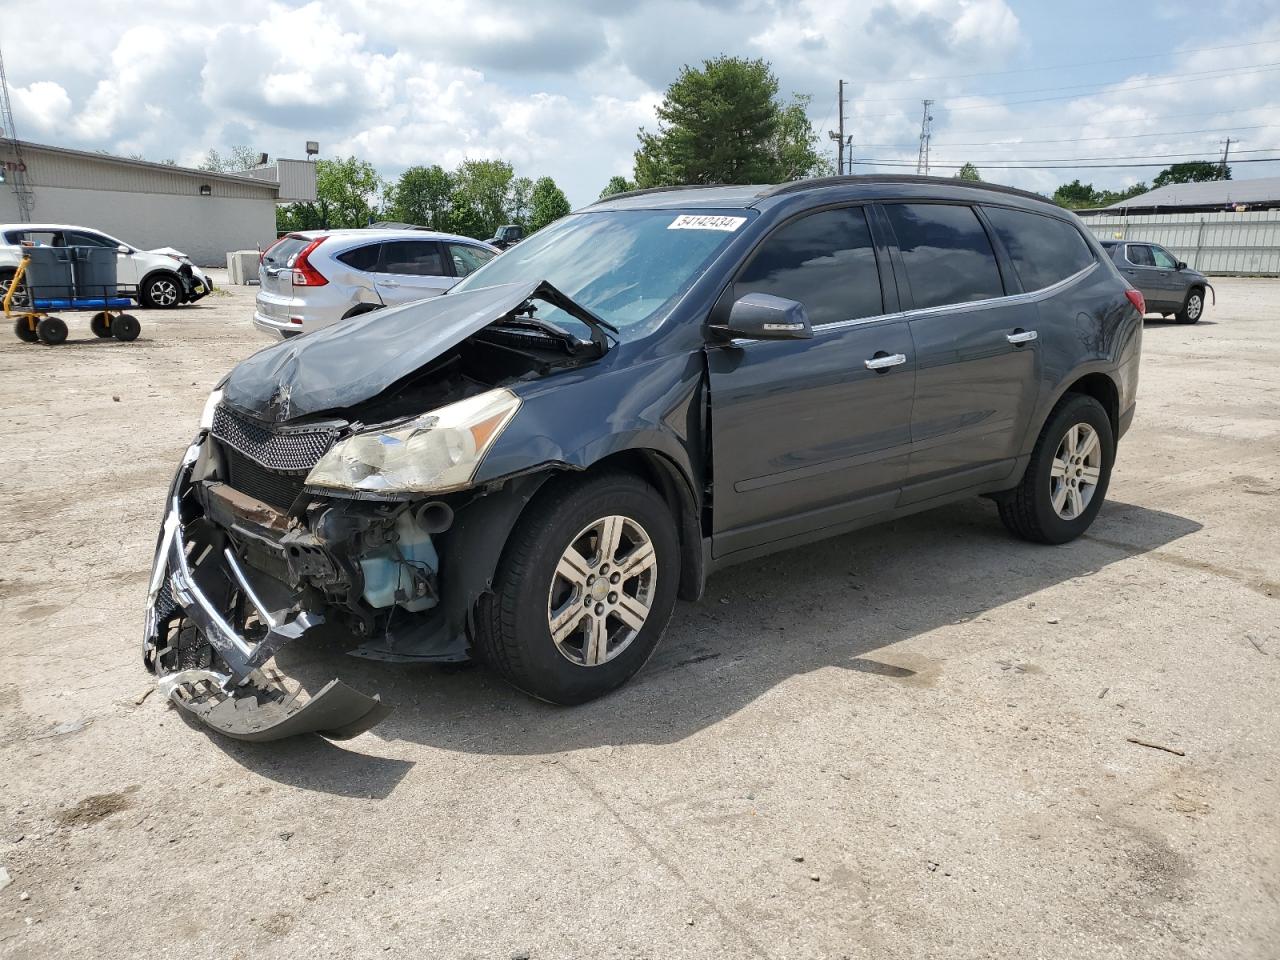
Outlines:
{"label": "cloudy blue sky above the trees and buildings", "polygon": [[23,140],[182,165],[315,140],[385,178],[502,157],[575,206],[630,175],[681,67],[721,54],[763,58],[783,96],[810,96],[832,155],[847,81],[855,173],[915,170],[923,97],[932,173],[972,160],[1042,192],[1160,168],[998,166],[1178,163],[1226,137],[1233,160],[1280,157],[1275,0],[0,0],[0,24]]}

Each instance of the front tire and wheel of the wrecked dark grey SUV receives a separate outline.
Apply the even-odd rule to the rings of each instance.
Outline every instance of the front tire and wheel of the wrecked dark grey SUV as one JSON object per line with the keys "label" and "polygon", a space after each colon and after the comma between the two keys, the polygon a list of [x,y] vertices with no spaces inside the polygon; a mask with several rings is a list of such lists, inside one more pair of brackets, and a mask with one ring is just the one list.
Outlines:
{"label": "front tire and wheel of the wrecked dark grey SUV", "polygon": [[[640,575],[603,570],[613,559],[599,547],[609,529],[620,531],[614,558],[649,562]],[[562,564],[571,554],[577,561],[575,582],[561,573],[570,568]],[[540,700],[594,700],[630,680],[657,649],[678,581],[676,524],[657,490],[614,472],[559,483],[529,506],[507,540],[493,593],[477,607],[476,653],[512,686]],[[646,616],[637,618],[646,599]],[[621,614],[632,625],[639,620],[640,628]],[[561,625],[559,643],[552,635],[553,616]]]}

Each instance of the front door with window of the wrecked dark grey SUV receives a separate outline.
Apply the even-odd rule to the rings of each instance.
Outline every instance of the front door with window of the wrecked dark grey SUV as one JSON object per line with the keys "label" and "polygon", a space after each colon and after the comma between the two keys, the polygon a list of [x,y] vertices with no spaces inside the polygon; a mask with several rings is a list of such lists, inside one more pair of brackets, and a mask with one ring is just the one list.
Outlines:
{"label": "front door with window of the wrecked dark grey SUV", "polygon": [[814,335],[708,346],[717,557],[897,499],[915,352],[906,321],[886,316],[884,257],[863,207],[824,210],[776,229],[728,292],[804,303]]}

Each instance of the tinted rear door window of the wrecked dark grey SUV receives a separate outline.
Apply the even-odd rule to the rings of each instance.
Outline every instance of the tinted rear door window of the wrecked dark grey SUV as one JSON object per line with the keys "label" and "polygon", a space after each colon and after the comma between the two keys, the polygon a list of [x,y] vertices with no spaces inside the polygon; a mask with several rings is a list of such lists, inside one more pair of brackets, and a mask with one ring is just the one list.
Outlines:
{"label": "tinted rear door window of the wrecked dark grey SUV", "polygon": [[884,210],[918,308],[1005,294],[996,253],[972,207],[887,204]]}

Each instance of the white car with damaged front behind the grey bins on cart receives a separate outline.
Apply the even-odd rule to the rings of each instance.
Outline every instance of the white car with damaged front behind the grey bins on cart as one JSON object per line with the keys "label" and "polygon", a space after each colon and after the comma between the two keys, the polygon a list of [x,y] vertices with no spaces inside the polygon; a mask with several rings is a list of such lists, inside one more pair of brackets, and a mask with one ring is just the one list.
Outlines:
{"label": "white car with damaged front behind the grey bins on cart", "polygon": [[110,247],[116,251],[116,283],[137,287],[137,301],[143,307],[172,308],[193,303],[212,291],[209,274],[191,262],[191,257],[173,247],[140,250],[132,243],[88,227],[70,224],[0,224],[0,285],[8,287],[23,244],[46,247]]}

